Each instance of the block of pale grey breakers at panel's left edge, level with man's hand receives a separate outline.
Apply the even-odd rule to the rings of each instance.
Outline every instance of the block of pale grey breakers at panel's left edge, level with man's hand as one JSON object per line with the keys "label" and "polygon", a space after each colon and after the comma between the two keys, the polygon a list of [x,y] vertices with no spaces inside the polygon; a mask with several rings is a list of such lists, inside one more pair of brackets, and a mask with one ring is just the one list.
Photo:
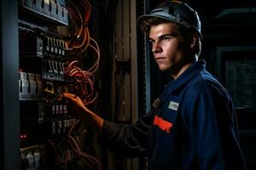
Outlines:
{"label": "block of pale grey breakers at panel's left edge, level with man's hand", "polygon": [[40,99],[43,82],[41,76],[19,71],[20,100]]}

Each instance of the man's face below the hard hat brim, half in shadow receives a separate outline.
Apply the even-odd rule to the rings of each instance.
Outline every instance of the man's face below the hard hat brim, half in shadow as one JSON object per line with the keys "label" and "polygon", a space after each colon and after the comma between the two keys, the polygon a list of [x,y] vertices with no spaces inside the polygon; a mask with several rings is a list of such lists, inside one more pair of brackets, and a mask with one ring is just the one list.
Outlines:
{"label": "man's face below the hard hat brim, half in shadow", "polygon": [[183,59],[183,38],[178,35],[177,26],[173,23],[151,26],[149,39],[160,71],[175,70]]}

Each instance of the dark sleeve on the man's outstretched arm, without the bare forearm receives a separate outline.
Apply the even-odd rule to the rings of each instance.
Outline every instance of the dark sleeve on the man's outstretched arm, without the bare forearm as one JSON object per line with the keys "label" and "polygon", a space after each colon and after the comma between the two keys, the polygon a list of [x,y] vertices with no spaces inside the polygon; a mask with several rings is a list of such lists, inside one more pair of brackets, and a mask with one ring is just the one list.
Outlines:
{"label": "dark sleeve on the man's outstretched arm, without the bare forearm", "polygon": [[135,124],[104,121],[101,143],[121,156],[146,156],[148,134],[153,121],[153,111],[138,119]]}

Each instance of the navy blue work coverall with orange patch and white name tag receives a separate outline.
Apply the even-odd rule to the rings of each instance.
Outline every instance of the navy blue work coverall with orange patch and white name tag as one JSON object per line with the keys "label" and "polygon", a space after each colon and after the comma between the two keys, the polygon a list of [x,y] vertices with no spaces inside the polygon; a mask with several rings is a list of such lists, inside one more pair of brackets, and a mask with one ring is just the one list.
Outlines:
{"label": "navy blue work coverall with orange patch and white name tag", "polygon": [[160,106],[125,125],[104,121],[102,140],[148,170],[244,170],[230,95],[199,60],[166,85]]}

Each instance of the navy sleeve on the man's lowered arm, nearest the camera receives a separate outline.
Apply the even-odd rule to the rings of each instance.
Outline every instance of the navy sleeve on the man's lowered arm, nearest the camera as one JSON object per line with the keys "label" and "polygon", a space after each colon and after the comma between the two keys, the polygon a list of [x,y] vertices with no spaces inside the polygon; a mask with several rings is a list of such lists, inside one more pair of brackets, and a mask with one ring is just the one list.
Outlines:
{"label": "navy sleeve on the man's lowered arm, nearest the camera", "polygon": [[199,169],[246,169],[230,97],[207,87],[189,101],[187,109],[187,127]]}

